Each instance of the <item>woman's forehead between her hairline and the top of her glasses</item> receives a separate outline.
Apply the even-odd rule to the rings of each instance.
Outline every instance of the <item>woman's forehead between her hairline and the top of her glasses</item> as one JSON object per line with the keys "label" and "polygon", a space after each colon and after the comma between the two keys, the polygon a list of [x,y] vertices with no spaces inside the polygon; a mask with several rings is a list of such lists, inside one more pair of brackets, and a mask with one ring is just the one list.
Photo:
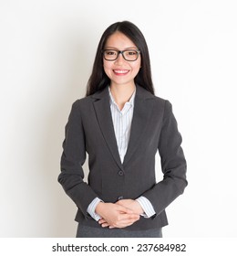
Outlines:
{"label": "woman's forehead between her hairline and the top of her glasses", "polygon": [[129,37],[118,31],[108,37],[105,47],[119,49],[137,48],[136,45],[129,39]]}

